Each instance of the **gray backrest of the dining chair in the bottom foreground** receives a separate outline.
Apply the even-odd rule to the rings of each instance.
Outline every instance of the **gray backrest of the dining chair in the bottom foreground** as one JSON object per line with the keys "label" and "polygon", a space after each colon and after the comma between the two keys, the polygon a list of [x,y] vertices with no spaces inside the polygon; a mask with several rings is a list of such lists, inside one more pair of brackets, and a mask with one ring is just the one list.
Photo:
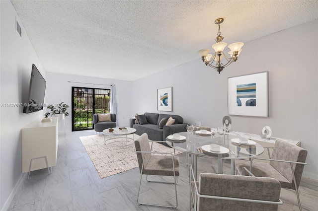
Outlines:
{"label": "gray backrest of the dining chair in the bottom foreground", "polygon": [[[201,173],[199,194],[278,202],[281,185],[267,177]],[[277,211],[278,205],[199,198],[200,211]]]}

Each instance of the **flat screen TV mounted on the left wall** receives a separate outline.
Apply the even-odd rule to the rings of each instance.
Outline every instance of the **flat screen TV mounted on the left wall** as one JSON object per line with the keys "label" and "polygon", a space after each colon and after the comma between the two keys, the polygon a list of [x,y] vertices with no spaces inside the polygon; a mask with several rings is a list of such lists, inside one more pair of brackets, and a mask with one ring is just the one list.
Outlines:
{"label": "flat screen TV mounted on the left wall", "polygon": [[40,71],[32,64],[29,94],[27,106],[23,107],[23,113],[31,113],[43,110],[46,81]]}

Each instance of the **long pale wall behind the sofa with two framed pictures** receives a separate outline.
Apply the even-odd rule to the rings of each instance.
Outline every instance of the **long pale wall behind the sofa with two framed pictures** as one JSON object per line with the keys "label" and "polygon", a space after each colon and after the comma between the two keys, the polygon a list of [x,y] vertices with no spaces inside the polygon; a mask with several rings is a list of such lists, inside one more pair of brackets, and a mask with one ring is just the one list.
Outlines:
{"label": "long pale wall behind the sofa with two framed pictures", "polygon": [[160,113],[181,115],[186,123],[201,121],[204,126],[218,127],[228,115],[228,77],[268,71],[269,117],[231,116],[232,129],[259,134],[270,126],[274,137],[301,141],[308,150],[303,175],[318,179],[317,34],[315,20],[245,43],[237,63],[221,74],[197,59],[136,80],[133,99],[138,100],[132,115],[158,112],[157,89],[172,86],[173,111]]}

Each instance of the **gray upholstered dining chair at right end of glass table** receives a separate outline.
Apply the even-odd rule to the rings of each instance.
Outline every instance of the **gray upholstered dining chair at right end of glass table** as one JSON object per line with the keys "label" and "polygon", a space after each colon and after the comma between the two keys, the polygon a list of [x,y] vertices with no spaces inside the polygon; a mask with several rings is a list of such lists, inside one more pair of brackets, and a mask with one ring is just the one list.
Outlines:
{"label": "gray upholstered dining chair at right end of glass table", "polygon": [[[302,178],[306,163],[307,150],[283,140],[276,140],[271,159],[254,157],[248,160],[236,160],[235,169],[237,174],[248,175],[242,171],[245,167],[251,175],[256,177],[271,177],[277,179],[282,188],[294,189],[296,191],[299,210],[302,210],[298,187]],[[269,160],[265,162],[253,162],[254,160]]]}

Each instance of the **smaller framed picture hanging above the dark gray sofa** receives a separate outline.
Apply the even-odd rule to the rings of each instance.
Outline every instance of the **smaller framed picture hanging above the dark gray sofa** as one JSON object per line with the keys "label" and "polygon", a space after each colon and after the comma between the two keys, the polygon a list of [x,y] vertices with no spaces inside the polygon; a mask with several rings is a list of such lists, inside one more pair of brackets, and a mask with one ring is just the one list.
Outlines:
{"label": "smaller framed picture hanging above the dark gray sofa", "polygon": [[172,111],[172,87],[157,89],[158,111]]}

